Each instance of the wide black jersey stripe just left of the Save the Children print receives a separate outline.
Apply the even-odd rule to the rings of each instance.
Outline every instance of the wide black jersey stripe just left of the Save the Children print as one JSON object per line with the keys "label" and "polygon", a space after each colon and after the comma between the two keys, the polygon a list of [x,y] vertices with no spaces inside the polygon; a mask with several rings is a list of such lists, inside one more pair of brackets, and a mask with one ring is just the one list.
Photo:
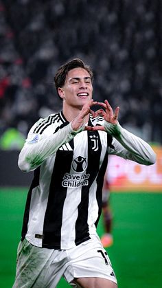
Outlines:
{"label": "wide black jersey stripe just left of the Save the Children print", "polygon": [[[73,148],[73,140],[69,142]],[[56,153],[54,170],[51,176],[49,199],[45,212],[43,227],[43,247],[60,249],[62,211],[67,196],[67,187],[62,187],[62,179],[65,173],[69,173],[73,151],[60,151]]]}

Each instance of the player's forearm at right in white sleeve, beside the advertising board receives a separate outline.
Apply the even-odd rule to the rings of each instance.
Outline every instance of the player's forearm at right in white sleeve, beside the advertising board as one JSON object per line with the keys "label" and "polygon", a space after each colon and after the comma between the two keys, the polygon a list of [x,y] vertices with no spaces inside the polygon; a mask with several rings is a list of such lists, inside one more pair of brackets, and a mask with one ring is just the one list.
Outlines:
{"label": "player's forearm at right in white sleeve, beside the advertising board", "polygon": [[139,164],[152,165],[156,162],[156,154],[148,143],[117,125],[104,122],[106,131],[126,149],[126,158]]}

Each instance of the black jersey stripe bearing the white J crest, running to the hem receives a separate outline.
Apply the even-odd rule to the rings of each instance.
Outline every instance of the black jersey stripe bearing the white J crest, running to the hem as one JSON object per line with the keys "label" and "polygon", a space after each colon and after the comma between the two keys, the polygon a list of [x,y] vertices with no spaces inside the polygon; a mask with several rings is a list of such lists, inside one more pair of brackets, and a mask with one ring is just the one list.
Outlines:
{"label": "black jersey stripe bearing the white J crest, running to the hem", "polygon": [[[90,124],[90,122],[89,122]],[[102,145],[100,142],[100,135],[98,131],[88,131],[88,166],[86,168],[86,174],[90,174],[89,186],[82,186],[81,202],[78,206],[78,219],[76,221],[76,245],[90,239],[89,225],[88,225],[88,207],[89,207],[89,189],[93,181],[97,177],[98,170],[100,168],[100,155],[102,151]],[[98,140],[98,149],[93,149],[94,142],[92,137],[96,137]]]}

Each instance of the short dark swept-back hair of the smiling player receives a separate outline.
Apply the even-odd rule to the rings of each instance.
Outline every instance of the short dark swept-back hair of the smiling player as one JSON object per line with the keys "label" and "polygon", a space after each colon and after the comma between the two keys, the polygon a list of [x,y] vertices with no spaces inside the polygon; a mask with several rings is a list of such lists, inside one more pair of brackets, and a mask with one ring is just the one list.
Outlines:
{"label": "short dark swept-back hair of the smiling player", "polygon": [[[86,65],[80,58],[74,58],[73,60],[70,60],[69,62],[60,66],[60,68],[58,68],[58,71],[56,72],[56,75],[54,76],[54,83],[55,83],[57,93],[58,93],[58,88],[63,87],[65,85],[65,80],[66,80],[66,76],[68,72],[74,68],[85,69],[87,72],[89,72],[91,81],[93,81],[93,71],[91,70],[91,67],[89,65]],[[62,100],[61,97],[60,99]]]}

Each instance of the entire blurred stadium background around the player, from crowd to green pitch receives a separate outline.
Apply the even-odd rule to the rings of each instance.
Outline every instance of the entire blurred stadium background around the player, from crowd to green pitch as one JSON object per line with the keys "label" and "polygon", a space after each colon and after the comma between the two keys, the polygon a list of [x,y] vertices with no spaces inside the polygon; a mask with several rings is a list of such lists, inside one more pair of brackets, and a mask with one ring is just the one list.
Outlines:
{"label": "entire blurred stadium background around the player, from crowd to green pitch", "polygon": [[161,14],[161,0],[0,0],[0,287],[14,281],[32,178],[19,171],[17,157],[30,126],[60,110],[53,78],[73,57],[93,67],[95,100],[119,105],[120,124],[157,153],[149,167],[117,157],[108,162],[108,254],[119,288],[162,286]]}

